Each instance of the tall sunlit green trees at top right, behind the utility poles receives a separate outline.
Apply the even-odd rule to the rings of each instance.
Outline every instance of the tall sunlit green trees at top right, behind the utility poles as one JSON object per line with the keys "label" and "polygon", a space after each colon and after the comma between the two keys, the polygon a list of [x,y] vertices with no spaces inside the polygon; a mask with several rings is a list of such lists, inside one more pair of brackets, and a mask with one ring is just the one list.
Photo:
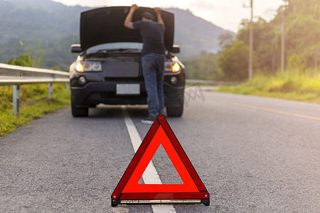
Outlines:
{"label": "tall sunlit green trees at top right, behind the utility poles", "polygon": [[[284,6],[279,7],[272,21],[259,18],[253,24],[253,50],[260,70],[279,70],[282,17],[286,64],[289,65],[289,57],[296,54],[306,67],[313,67],[312,51],[320,51],[320,0],[284,0]],[[249,45],[249,23],[243,21],[236,37],[246,45]]]}

